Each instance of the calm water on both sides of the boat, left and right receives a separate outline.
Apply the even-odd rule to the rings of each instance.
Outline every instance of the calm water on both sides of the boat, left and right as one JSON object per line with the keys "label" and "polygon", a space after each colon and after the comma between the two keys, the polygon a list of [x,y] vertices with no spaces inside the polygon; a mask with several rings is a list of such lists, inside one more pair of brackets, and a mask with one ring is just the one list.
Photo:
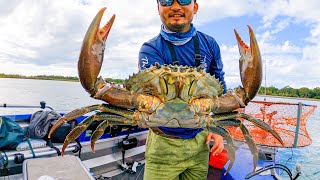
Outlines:
{"label": "calm water on both sides of the boat, left and right", "polygon": [[[257,97],[257,100],[263,100]],[[320,179],[320,102],[283,98],[267,98],[268,101],[302,102],[317,105],[307,124],[308,132],[313,140],[310,146],[296,149],[279,149],[280,162],[289,169],[295,170],[295,164],[302,165],[302,176],[299,179]],[[70,111],[79,107],[99,104],[82,88],[79,82],[29,80],[29,79],[1,79],[0,104],[38,106],[45,101],[56,111]],[[10,109],[0,108],[0,115],[32,113],[38,109]],[[284,174],[283,174],[284,175]]]}

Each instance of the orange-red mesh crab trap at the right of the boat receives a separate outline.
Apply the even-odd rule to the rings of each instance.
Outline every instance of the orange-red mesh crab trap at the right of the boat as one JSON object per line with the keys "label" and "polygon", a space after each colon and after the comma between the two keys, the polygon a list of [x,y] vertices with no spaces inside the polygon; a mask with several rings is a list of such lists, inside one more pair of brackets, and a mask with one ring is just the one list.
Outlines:
{"label": "orange-red mesh crab trap at the right of the boat", "polygon": [[[275,130],[284,142],[285,148],[305,147],[312,140],[307,132],[306,124],[316,105],[286,102],[251,101],[239,112],[259,118]],[[299,121],[297,121],[299,118]],[[300,122],[298,124],[298,122]],[[243,121],[253,140],[259,145],[282,147],[281,144],[267,131],[254,126],[251,122]],[[297,129],[298,128],[298,129]],[[241,129],[227,127],[233,139],[244,141]],[[298,133],[298,136],[296,135]]]}

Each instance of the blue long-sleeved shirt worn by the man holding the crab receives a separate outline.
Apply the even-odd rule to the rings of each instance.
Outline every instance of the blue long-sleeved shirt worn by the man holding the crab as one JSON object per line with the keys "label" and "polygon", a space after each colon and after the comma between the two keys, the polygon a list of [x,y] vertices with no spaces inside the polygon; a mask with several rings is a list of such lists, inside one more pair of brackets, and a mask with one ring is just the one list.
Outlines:
{"label": "blue long-sleeved shirt worn by the man holding the crab", "polygon": [[[223,64],[221,60],[220,48],[214,38],[202,32],[197,31],[200,48],[200,65],[205,67],[207,73],[214,75],[221,81],[226,92],[226,83],[224,81]],[[195,67],[194,60],[194,42],[191,39],[184,45],[173,46],[180,65]],[[170,50],[164,38],[159,34],[150,41],[144,43],[139,52],[139,68],[145,69],[150,65],[172,64]],[[202,129],[192,128],[169,128],[159,127],[162,132],[168,135],[179,136],[182,139],[195,137]]]}

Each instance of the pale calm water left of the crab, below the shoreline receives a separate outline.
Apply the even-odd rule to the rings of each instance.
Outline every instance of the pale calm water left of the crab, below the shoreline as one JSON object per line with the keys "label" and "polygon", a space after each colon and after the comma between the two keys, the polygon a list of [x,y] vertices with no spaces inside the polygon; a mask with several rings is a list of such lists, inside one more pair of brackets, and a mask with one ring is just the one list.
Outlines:
{"label": "pale calm water left of the crab, below the shoreline", "polygon": [[[40,106],[40,101],[45,101],[47,106],[57,111],[70,111],[102,103],[102,101],[90,98],[79,82],[0,78],[1,106],[4,103]],[[30,113],[30,109],[0,108],[0,114],[8,113]]]}

